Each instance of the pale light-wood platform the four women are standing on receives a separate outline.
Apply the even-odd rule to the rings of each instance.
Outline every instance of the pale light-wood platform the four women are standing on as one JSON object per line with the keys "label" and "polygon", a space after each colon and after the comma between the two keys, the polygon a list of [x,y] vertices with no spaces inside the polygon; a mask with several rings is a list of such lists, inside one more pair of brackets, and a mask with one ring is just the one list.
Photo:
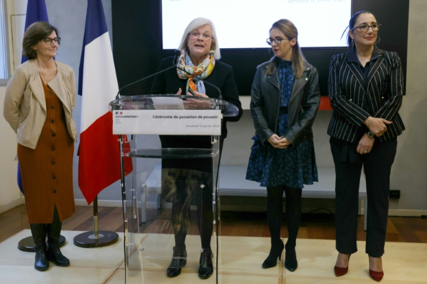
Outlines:
{"label": "pale light-wood platform the four women are standing on", "polygon": [[[71,242],[79,231],[63,231],[68,243],[61,249],[70,258],[70,267],[51,267],[46,272],[33,268],[34,253],[22,252],[16,248],[20,238],[30,235],[23,230],[12,238],[0,243],[0,283],[1,284],[123,284],[123,241],[109,247],[84,249]],[[123,235],[119,234],[120,238]],[[150,236],[152,237],[152,236]],[[189,236],[189,242],[197,238]],[[160,240],[161,236],[157,238]],[[169,237],[167,237],[169,238]],[[156,238],[154,238],[156,239]],[[198,241],[198,240],[197,240]],[[269,251],[269,238],[261,237],[222,237],[220,280],[223,284],[363,284],[375,283],[368,275],[368,256],[365,242],[358,242],[359,252],[351,256],[347,275],[336,278],[333,274],[336,251],[333,240],[298,239],[298,269],[291,273],[283,264],[263,270],[261,263]],[[285,239],[286,241],[286,239]],[[164,246],[165,250],[170,248]],[[165,260],[165,263],[169,260]],[[197,260],[189,261],[197,263]],[[282,261],[283,262],[283,261]],[[383,256],[384,284],[426,284],[427,283],[427,244],[386,243]],[[129,273],[132,275],[132,271]],[[131,277],[128,283],[202,283],[213,284],[214,278],[201,280],[197,277],[197,267],[190,264],[176,278],[165,277],[163,267],[144,267],[143,277]]]}

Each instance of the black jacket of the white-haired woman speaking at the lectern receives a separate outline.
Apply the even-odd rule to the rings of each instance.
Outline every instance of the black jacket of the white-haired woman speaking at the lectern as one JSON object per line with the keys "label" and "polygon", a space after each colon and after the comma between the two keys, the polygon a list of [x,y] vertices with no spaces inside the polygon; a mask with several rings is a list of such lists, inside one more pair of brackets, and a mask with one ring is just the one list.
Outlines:
{"label": "black jacket of the white-haired woman speaking at the lectern", "polygon": [[[173,65],[173,57],[167,57],[161,60],[158,71],[167,69]],[[215,67],[212,70],[211,75],[206,77],[204,81],[207,81],[219,88],[222,94],[222,99],[228,103],[232,103],[239,108],[239,115],[234,117],[225,117],[222,123],[222,138],[227,137],[227,121],[238,121],[242,116],[242,104],[239,100],[239,93],[237,92],[237,86],[234,82],[233,69],[230,65],[225,64],[221,61],[216,60]],[[151,94],[176,94],[178,89],[181,88],[182,95],[185,95],[187,79],[180,79],[178,77],[175,68],[172,68],[166,72],[157,75],[154,79],[154,83],[151,87]],[[218,91],[205,84],[206,95],[209,98],[219,98]]]}

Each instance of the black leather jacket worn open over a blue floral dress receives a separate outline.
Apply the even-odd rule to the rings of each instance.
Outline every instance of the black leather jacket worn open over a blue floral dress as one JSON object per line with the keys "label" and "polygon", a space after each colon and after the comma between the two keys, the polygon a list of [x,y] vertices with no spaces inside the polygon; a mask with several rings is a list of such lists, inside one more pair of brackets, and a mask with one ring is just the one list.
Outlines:
{"label": "black leather jacket worn open over a blue floral dress", "polygon": [[[275,57],[272,58],[275,60]],[[267,75],[270,61],[258,66],[251,89],[251,115],[255,132],[263,145],[268,138],[277,133],[280,108],[280,83],[277,69]],[[316,68],[305,63],[304,73],[295,78],[288,105],[289,130],[284,134],[290,143],[313,139],[313,125],[320,103],[319,74]]]}

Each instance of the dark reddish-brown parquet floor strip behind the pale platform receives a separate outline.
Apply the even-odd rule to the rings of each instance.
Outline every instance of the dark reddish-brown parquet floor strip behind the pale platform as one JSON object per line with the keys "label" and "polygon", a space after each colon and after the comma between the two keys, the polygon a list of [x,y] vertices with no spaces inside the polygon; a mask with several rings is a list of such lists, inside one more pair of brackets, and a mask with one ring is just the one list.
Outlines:
{"label": "dark reddish-brown parquet floor strip behind the pale platform", "polygon": [[[158,215],[158,210],[147,214]],[[99,230],[123,232],[123,213],[121,207],[98,207]],[[269,237],[265,212],[221,212],[221,235]],[[165,222],[169,220],[165,219]],[[149,227],[153,221],[144,224]],[[158,220],[156,220],[158,222]],[[93,230],[93,208],[90,206],[76,207],[76,213],[63,222],[62,229],[70,231]],[[357,224],[357,240],[365,241],[363,216]],[[0,214],[0,242],[15,235],[23,229],[29,229],[24,205],[15,207]],[[196,226],[192,227],[197,230]],[[143,229],[141,229],[143,231]],[[191,232],[190,232],[191,233]],[[197,234],[197,232],[194,232]],[[281,237],[287,238],[286,221],[283,221]],[[301,239],[335,239],[335,222],[332,214],[303,214],[298,232]],[[386,241],[427,243],[427,218],[421,217],[389,217]]]}

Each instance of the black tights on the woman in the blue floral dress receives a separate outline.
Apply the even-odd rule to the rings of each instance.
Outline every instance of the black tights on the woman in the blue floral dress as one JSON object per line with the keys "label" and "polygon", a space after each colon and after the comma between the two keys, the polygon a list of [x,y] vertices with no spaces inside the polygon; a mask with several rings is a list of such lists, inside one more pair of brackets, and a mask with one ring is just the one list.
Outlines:
{"label": "black tights on the woman in the blue floral dress", "polygon": [[288,224],[287,247],[295,247],[301,219],[301,188],[284,185],[267,186],[267,218],[272,247],[281,243],[280,227],[283,215],[283,192],[286,196],[286,220]]}

